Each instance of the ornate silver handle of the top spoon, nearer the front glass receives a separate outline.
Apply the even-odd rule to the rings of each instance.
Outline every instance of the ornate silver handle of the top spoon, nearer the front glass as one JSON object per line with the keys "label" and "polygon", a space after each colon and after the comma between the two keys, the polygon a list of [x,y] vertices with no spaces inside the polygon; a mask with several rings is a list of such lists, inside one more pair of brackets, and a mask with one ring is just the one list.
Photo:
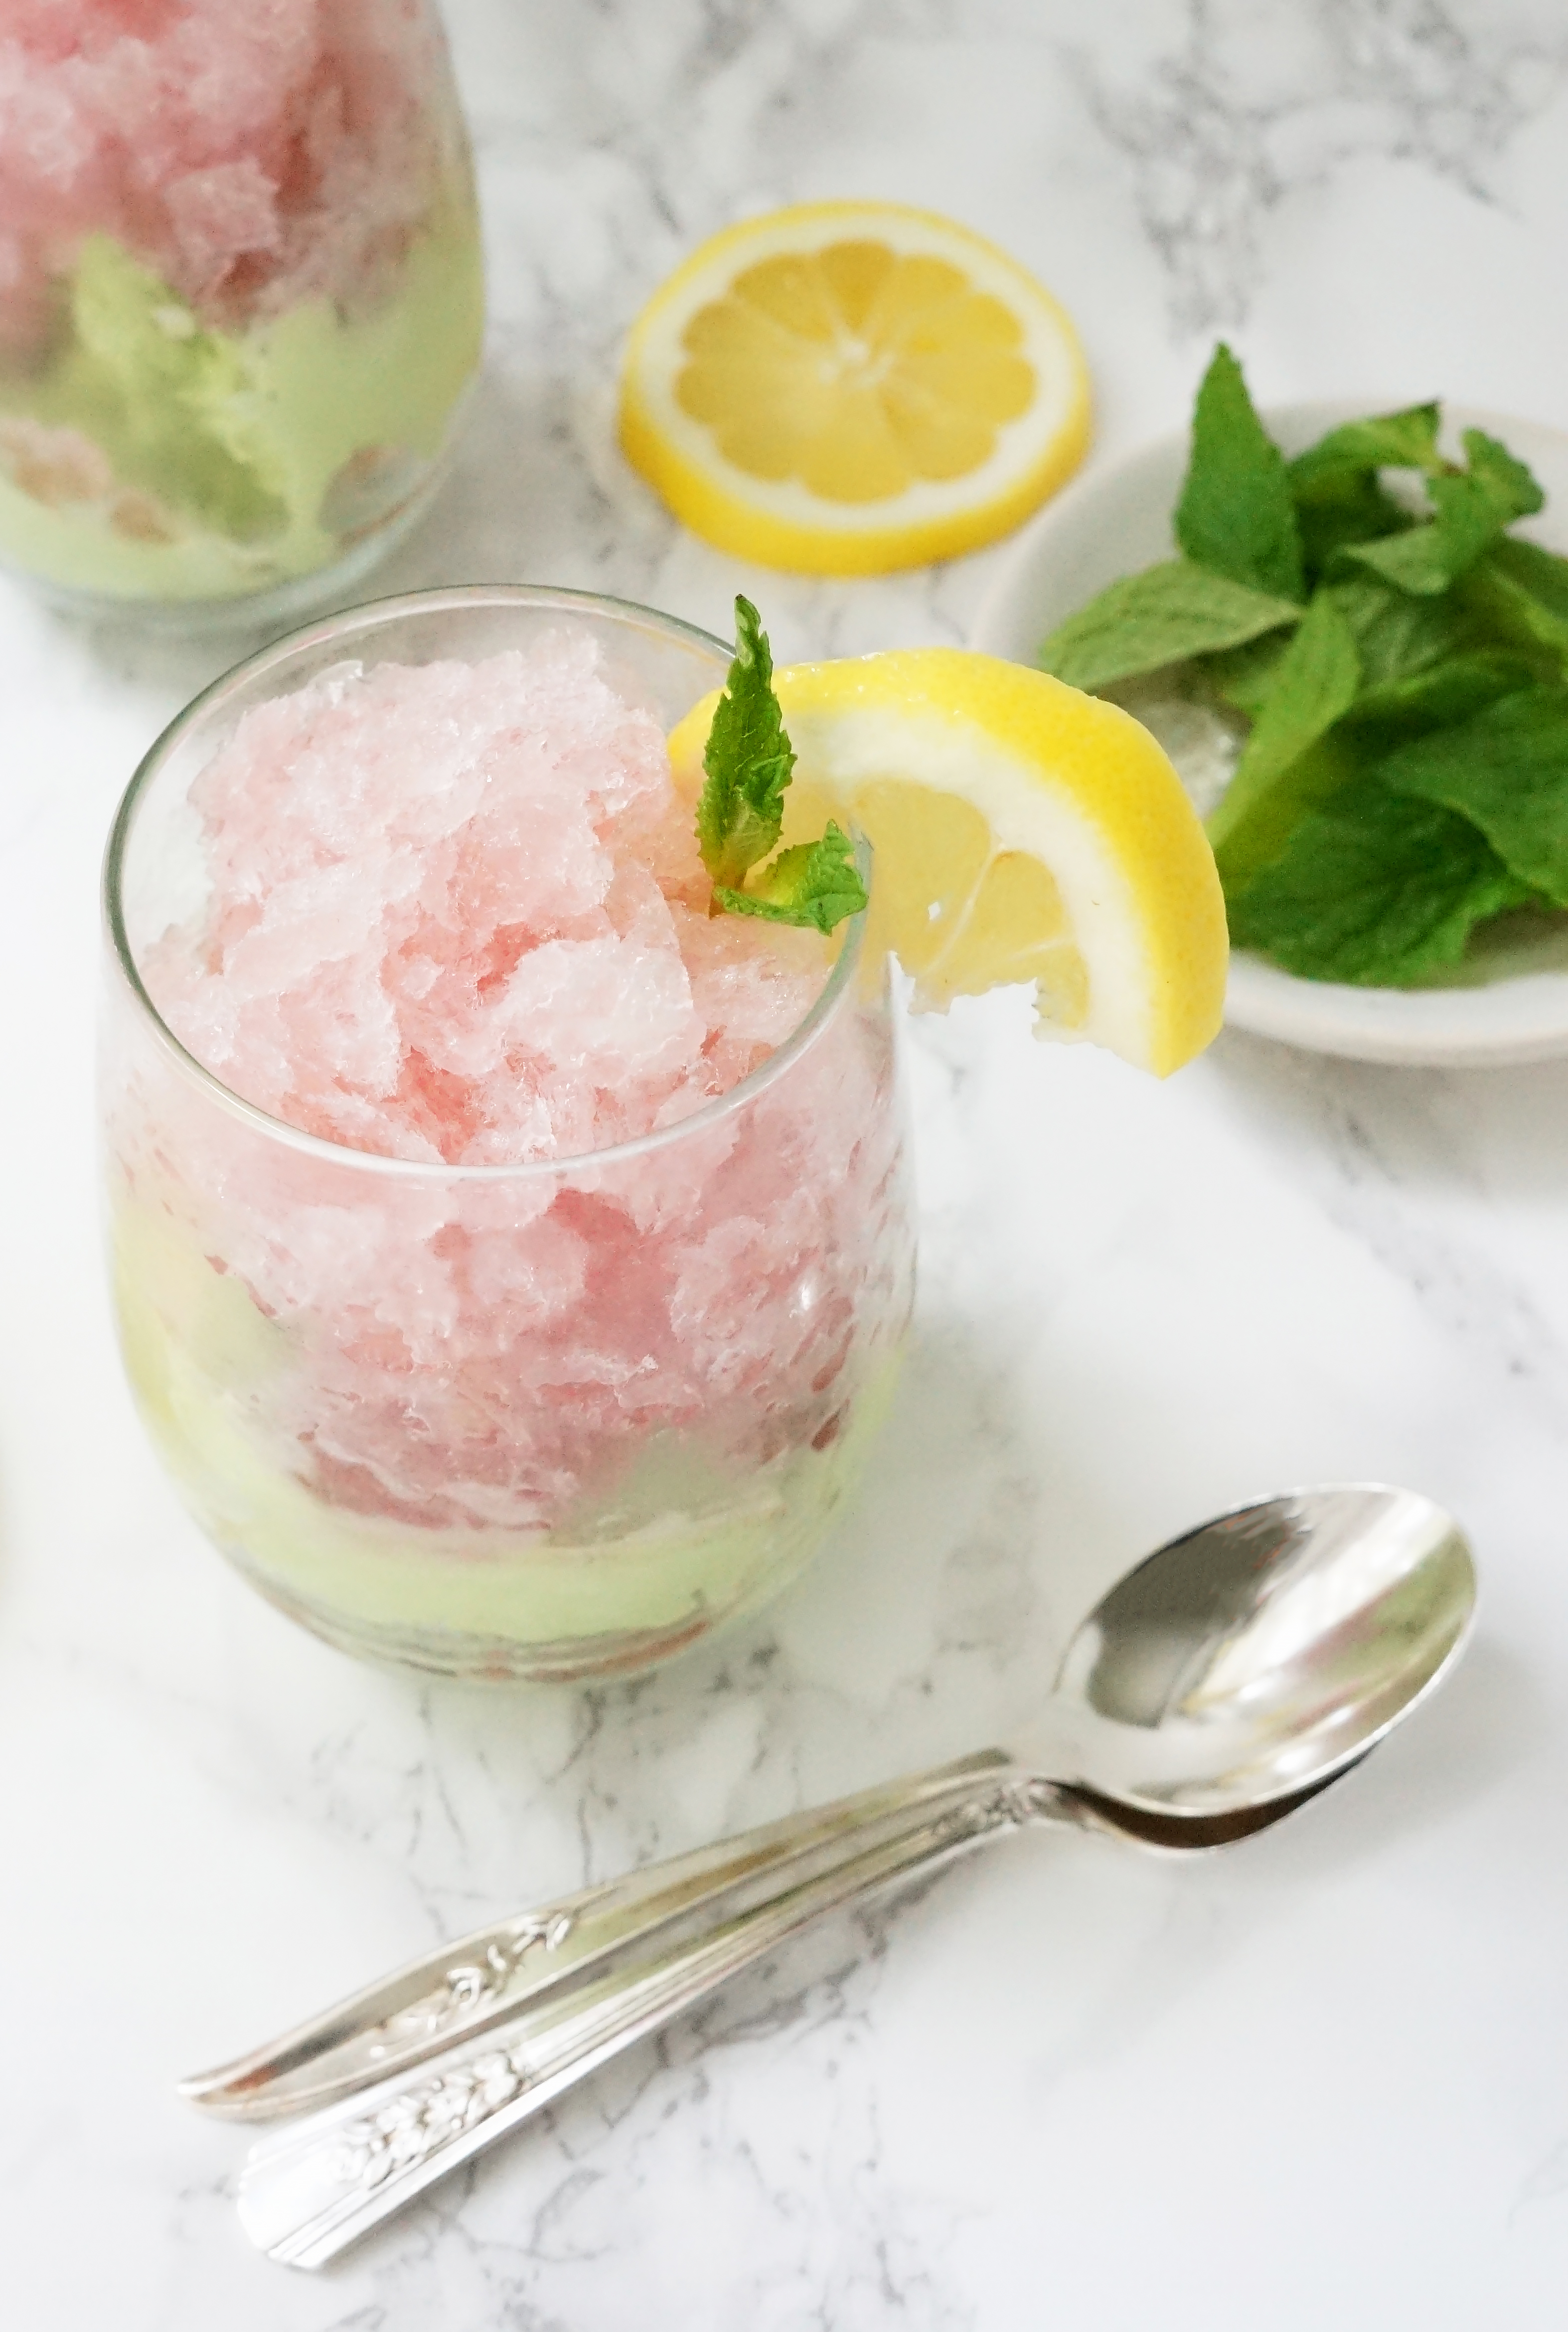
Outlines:
{"label": "ornate silver handle of the top spoon, nearer the front glass", "polygon": [[194,2073],[180,2094],[240,2122],[352,2096],[492,2031],[628,1950],[754,1908],[791,1873],[817,1868],[824,1854],[842,1856],[889,1821],[919,1819],[924,1807],[964,1796],[1008,1765],[1003,1751],[987,1749],[516,1912],[427,1952],[233,2064]]}

